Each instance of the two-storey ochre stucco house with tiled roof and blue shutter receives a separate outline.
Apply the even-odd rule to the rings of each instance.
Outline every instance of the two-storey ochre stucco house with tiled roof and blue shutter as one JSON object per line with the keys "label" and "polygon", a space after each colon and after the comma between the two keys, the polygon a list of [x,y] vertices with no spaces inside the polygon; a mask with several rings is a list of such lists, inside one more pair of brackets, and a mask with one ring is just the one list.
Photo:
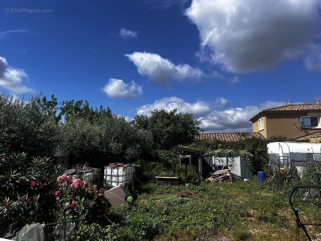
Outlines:
{"label": "two-storey ochre stucco house with tiled roof and blue shutter", "polygon": [[291,104],[265,109],[249,119],[253,123],[253,132],[261,133],[265,138],[283,135],[289,138],[321,139],[321,104]]}

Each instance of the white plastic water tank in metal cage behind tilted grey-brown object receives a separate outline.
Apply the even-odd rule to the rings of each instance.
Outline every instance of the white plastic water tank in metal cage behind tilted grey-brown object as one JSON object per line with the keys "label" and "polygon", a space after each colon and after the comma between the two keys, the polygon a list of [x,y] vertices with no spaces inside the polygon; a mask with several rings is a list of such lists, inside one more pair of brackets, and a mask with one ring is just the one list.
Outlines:
{"label": "white plastic water tank in metal cage behind tilted grey-brown object", "polygon": [[110,183],[116,187],[122,183],[131,183],[133,181],[133,174],[135,173],[135,167],[129,166],[123,170],[123,167],[110,167],[104,166],[104,179],[106,183]]}

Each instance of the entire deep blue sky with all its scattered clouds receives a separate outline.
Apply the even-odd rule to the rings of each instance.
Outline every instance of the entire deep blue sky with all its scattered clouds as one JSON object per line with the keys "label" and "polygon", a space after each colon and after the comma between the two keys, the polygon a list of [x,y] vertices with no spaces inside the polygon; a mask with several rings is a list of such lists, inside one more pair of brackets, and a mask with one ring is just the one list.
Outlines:
{"label": "entire deep blue sky with all its scattered clouds", "polygon": [[317,0],[4,0],[0,18],[0,91],[17,98],[129,119],[177,107],[207,131],[251,131],[261,109],[321,96]]}

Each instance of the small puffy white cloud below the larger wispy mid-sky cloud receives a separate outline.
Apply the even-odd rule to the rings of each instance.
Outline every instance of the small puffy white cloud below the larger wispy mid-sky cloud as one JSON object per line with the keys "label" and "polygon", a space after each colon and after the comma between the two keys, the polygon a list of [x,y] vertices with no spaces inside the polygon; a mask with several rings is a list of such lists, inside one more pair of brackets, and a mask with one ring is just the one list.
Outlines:
{"label": "small puffy white cloud below the larger wispy mid-sky cloud", "polygon": [[101,89],[111,98],[128,99],[143,94],[142,86],[134,81],[126,84],[122,79],[109,79]]}

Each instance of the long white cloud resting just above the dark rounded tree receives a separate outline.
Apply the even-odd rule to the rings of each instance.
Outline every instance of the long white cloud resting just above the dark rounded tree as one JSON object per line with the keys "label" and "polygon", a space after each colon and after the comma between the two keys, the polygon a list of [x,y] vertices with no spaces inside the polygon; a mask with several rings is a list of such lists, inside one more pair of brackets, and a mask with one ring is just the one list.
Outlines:
{"label": "long white cloud resting just above the dark rounded tree", "polygon": [[196,101],[195,103],[185,102],[176,96],[166,97],[160,100],[156,100],[152,104],[146,104],[136,108],[138,114],[148,115],[153,110],[167,110],[171,111],[177,109],[178,112],[193,113],[194,117],[198,117],[208,113],[211,110],[210,104],[203,101]]}

